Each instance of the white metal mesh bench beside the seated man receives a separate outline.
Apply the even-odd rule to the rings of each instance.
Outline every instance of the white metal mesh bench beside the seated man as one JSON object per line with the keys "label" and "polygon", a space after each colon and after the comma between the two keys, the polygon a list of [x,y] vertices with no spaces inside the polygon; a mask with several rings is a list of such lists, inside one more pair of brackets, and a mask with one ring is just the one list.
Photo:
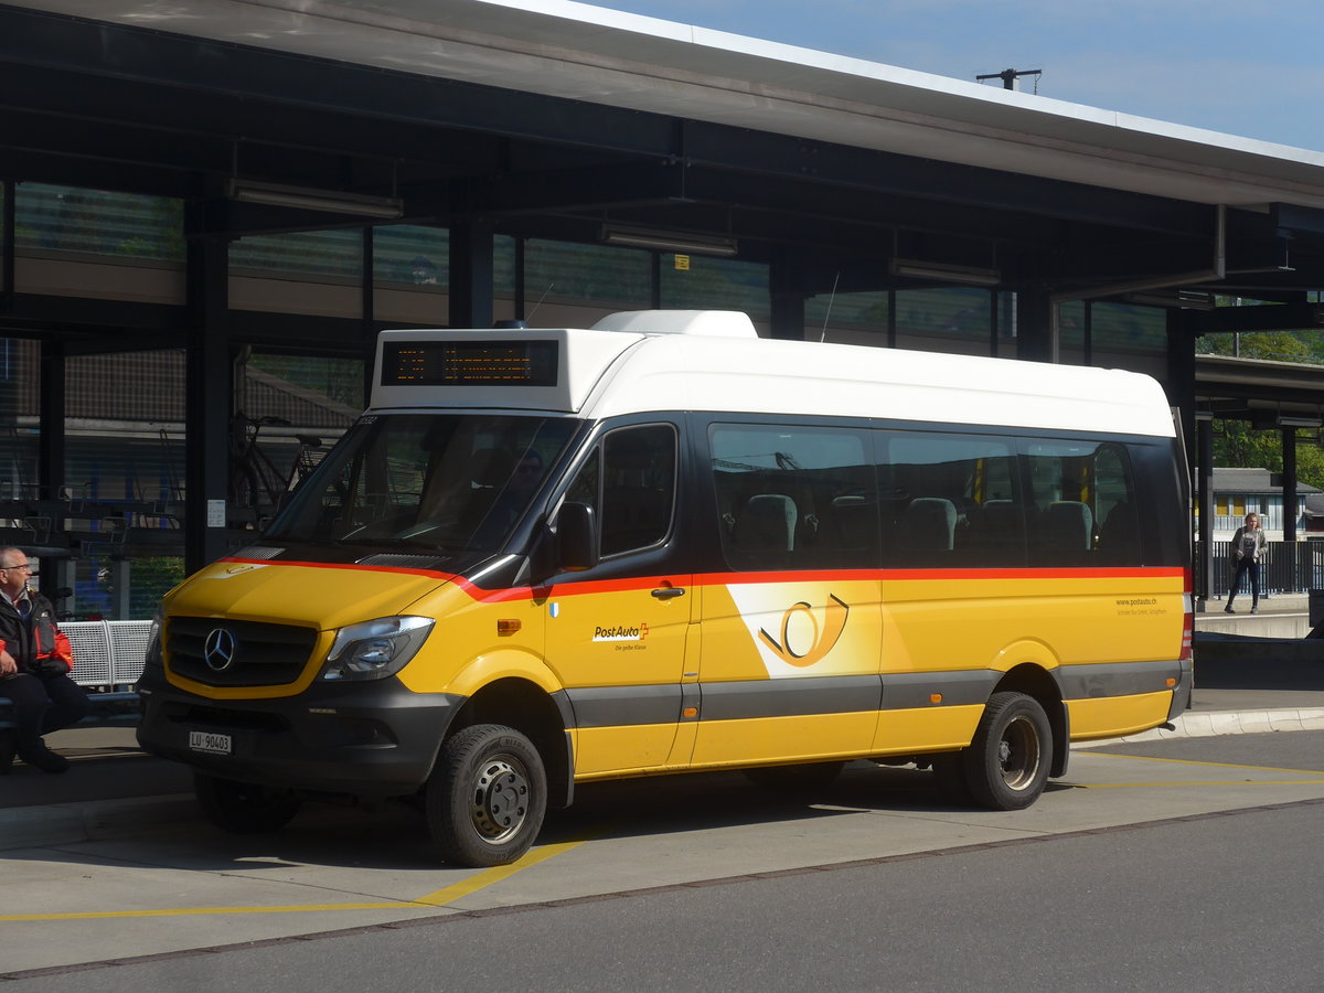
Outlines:
{"label": "white metal mesh bench beside the seated man", "polygon": [[[60,630],[74,650],[70,678],[87,691],[91,708],[75,727],[135,727],[142,700],[134,683],[143,674],[151,621],[65,621]],[[13,727],[13,704],[0,696],[0,727]]]}

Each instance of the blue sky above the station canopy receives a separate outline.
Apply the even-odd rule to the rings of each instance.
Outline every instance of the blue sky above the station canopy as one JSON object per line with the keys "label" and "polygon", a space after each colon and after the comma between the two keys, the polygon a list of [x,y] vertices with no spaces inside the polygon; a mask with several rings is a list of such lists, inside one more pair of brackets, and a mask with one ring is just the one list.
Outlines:
{"label": "blue sky above the station canopy", "polygon": [[[1324,151],[1320,0],[594,0],[768,41]],[[992,86],[1001,86],[994,79]]]}

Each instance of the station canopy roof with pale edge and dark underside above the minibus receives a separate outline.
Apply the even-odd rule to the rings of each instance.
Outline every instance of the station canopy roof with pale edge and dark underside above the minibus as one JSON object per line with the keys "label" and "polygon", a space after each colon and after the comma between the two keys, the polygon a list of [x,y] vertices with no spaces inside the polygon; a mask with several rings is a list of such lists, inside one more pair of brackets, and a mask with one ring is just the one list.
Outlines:
{"label": "station canopy roof with pale edge and dark underside above the minibus", "polygon": [[189,197],[192,236],[363,224],[234,195],[265,183],[707,238],[806,294],[941,281],[896,266],[918,260],[1324,323],[1321,152],[568,0],[17,0],[0,86],[16,179]]}

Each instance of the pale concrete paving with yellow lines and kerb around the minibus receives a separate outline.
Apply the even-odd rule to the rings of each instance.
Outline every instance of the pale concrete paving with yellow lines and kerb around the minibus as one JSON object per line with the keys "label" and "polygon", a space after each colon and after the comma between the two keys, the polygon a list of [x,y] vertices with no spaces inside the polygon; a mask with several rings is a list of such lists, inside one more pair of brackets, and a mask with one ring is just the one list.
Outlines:
{"label": "pale concrete paving with yellow lines and kerb around the minibus", "polygon": [[[372,813],[310,805],[278,835],[225,835],[200,818],[189,771],[139,752],[131,730],[65,731],[52,744],[73,759],[68,775],[20,764],[0,777],[11,908],[0,911],[9,936],[0,982],[41,981],[52,969],[54,989],[81,963],[343,928],[393,933],[503,908],[1094,837],[1231,810],[1317,817],[1324,642],[1197,632],[1196,655],[1193,706],[1172,730],[1078,748],[1067,777],[1029,810],[956,809],[927,773],[870,763],[853,764],[810,805],[733,773],[594,784],[576,792],[571,810],[552,813],[519,863],[491,870],[438,865],[417,812],[399,805]],[[1305,733],[1256,736],[1268,731]]]}

